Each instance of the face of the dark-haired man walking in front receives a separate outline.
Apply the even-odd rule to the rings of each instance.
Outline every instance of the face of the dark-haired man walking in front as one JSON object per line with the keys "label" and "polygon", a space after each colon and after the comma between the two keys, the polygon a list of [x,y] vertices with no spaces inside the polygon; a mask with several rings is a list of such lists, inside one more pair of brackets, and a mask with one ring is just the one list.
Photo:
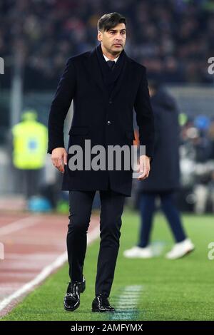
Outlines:
{"label": "face of the dark-haired man walking in front", "polygon": [[108,31],[98,31],[98,41],[102,42],[103,47],[112,55],[121,53],[126,44],[125,24],[118,24]]}

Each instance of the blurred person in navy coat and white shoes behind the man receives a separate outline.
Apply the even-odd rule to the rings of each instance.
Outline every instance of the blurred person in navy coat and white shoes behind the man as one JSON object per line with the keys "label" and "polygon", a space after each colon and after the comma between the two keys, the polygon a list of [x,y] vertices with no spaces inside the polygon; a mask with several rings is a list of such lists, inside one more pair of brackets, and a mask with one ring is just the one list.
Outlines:
{"label": "blurred person in navy coat and white shoes behind the man", "polygon": [[139,207],[141,229],[138,244],[123,254],[128,258],[150,258],[153,215],[156,198],[161,198],[161,207],[175,239],[173,249],[166,254],[168,259],[178,259],[192,252],[194,245],[186,236],[180,213],[175,206],[175,190],[179,187],[179,125],[175,100],[163,91],[157,82],[149,83],[151,104],[155,116],[155,148],[153,168],[146,180],[139,182]]}

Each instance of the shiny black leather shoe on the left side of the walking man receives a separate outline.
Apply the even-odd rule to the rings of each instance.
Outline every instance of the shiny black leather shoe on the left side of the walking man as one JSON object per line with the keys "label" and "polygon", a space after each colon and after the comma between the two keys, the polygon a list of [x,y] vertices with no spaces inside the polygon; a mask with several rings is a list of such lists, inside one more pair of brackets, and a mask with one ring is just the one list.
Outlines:
{"label": "shiny black leather shoe on the left side of the walking man", "polygon": [[86,289],[86,279],[82,282],[69,282],[66,296],[64,297],[64,309],[75,311],[80,305],[80,294]]}

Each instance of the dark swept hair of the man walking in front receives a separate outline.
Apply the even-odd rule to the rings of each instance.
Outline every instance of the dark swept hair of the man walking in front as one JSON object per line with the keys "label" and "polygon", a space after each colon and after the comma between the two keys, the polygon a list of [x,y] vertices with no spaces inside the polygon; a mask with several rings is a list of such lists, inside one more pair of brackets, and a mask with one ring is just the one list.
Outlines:
{"label": "dark swept hair of the man walking in front", "polygon": [[126,18],[119,13],[109,13],[101,16],[101,19],[98,19],[97,29],[98,31],[108,31],[113,29],[118,24],[126,25]]}

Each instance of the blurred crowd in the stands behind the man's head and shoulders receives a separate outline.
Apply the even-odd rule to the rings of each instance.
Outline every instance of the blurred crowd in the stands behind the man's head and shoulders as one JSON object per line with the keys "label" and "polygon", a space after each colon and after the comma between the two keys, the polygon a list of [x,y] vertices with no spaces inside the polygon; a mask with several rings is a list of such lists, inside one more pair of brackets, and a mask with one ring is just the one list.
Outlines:
{"label": "blurred crowd in the stands behind the man's head and shoulders", "polygon": [[[55,89],[65,59],[96,44],[101,14],[118,11],[128,18],[128,54],[152,78],[209,83],[213,10],[210,0],[1,0],[0,54],[8,73],[16,48],[21,50],[26,90]],[[10,79],[4,78],[7,87]]]}

